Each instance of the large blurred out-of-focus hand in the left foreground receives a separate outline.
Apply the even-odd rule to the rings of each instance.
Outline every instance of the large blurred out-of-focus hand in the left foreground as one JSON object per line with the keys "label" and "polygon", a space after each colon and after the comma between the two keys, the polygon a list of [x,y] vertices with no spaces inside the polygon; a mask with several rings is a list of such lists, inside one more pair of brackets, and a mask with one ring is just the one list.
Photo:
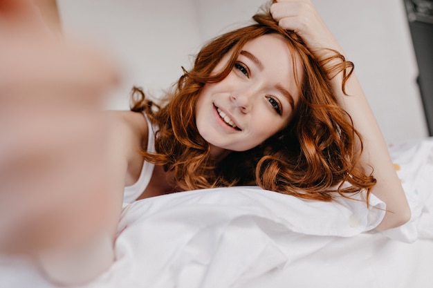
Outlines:
{"label": "large blurred out-of-focus hand in the left foreground", "polygon": [[0,253],[44,259],[115,233],[102,106],[118,73],[35,3],[0,0]]}

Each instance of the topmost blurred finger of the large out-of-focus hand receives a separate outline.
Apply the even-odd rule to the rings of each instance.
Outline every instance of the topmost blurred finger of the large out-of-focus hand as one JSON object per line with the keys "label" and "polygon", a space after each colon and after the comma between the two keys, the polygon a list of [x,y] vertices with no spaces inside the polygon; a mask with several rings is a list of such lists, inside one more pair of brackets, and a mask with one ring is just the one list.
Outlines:
{"label": "topmost blurred finger of the large out-of-focus hand", "polygon": [[23,83],[32,89],[104,88],[118,82],[116,65],[98,50],[55,41],[10,40],[0,48],[0,88],[24,88]]}

